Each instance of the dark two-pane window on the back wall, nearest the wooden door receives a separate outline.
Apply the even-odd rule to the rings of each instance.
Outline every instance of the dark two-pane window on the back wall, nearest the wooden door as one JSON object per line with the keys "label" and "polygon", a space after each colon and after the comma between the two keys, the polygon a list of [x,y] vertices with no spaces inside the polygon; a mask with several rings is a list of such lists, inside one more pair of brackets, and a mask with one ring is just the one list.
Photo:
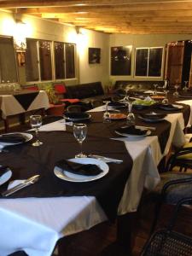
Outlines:
{"label": "dark two-pane window on the back wall, nearest the wooden door", "polygon": [[162,75],[162,47],[137,48],[135,76],[161,77]]}

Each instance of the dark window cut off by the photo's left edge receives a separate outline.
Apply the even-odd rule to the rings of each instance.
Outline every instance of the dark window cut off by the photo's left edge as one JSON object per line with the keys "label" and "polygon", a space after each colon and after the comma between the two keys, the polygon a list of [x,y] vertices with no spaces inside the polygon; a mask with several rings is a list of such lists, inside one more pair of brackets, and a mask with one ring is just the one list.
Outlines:
{"label": "dark window cut off by the photo's left edge", "polygon": [[13,38],[0,37],[0,81],[3,84],[17,80]]}

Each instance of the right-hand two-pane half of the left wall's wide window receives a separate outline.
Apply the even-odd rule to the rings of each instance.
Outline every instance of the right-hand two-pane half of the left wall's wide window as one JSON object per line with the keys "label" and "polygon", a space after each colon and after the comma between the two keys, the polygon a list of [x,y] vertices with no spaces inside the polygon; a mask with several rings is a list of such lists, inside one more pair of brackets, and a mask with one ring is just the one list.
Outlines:
{"label": "right-hand two-pane half of the left wall's wide window", "polygon": [[55,79],[75,78],[75,44],[54,42]]}

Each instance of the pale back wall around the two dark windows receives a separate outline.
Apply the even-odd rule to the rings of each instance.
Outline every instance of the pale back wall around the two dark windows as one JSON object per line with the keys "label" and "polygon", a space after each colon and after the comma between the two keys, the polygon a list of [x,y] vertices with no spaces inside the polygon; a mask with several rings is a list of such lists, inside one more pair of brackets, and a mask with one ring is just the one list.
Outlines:
{"label": "pale back wall around the two dark windows", "polygon": [[[134,65],[135,65],[135,49],[139,47],[166,47],[167,43],[176,42],[180,40],[191,39],[192,35],[181,35],[181,34],[160,34],[160,35],[123,35],[123,34],[112,34],[110,35],[109,48],[114,46],[132,46],[131,55],[131,76],[110,76],[110,81],[114,83],[116,80],[143,80],[143,78],[134,78]],[[164,58],[165,60],[165,58]],[[164,67],[165,61],[163,61]],[[161,79],[148,79],[148,80],[162,80]]]}

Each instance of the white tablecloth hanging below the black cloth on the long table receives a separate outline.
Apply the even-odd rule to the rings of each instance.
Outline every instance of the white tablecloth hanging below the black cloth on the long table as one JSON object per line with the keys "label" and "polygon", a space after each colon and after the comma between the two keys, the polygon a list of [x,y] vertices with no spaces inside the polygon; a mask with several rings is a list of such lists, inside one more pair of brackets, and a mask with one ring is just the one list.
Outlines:
{"label": "white tablecloth hanging below the black cloth on the long table", "polygon": [[[172,123],[171,138],[168,141],[171,144],[177,137],[176,133],[183,132],[183,125],[177,125],[182,115],[171,114],[167,119]],[[47,125],[46,130],[48,128]],[[183,143],[183,137],[181,141],[179,138],[177,143]],[[119,140],[125,142],[133,160],[131,175],[119,204],[119,214],[124,214],[137,210],[144,187],[153,189],[160,181],[156,166],[164,154],[160,152],[156,136],[139,138],[137,141],[128,137]],[[1,256],[20,248],[30,256],[48,256],[61,236],[90,229],[107,217],[94,197],[79,196],[2,199],[0,219]]]}

